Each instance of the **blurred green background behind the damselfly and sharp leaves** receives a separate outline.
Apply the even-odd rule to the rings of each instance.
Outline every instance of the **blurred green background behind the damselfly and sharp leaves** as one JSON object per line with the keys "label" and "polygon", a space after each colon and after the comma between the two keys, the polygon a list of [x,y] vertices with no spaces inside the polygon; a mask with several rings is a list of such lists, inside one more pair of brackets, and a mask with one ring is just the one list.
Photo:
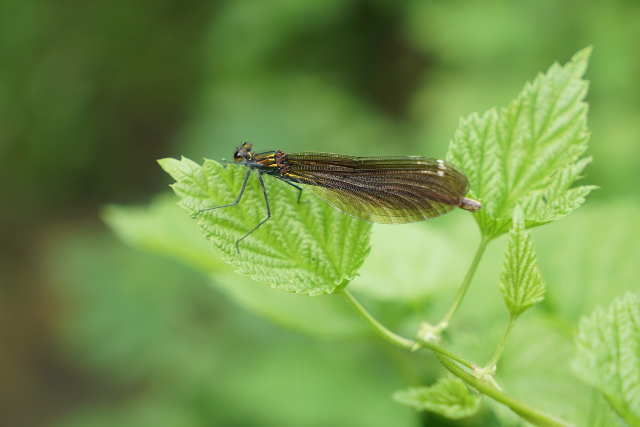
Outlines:
{"label": "blurred green background behind the damselfly and sharp leaves", "polygon": [[[575,325],[638,290],[639,40],[637,1],[3,0],[0,425],[445,425],[390,401],[440,374],[435,359],[380,342],[333,296],[233,276],[177,199],[155,197],[171,182],[156,159],[230,158],[241,140],[442,157],[461,116],[593,45],[584,183],[602,189],[534,230],[547,301],[498,376],[579,419],[593,395],[566,373]],[[191,264],[177,235],[193,238]],[[447,308],[460,281],[447,271],[467,268],[476,239],[464,214],[376,226],[353,289],[410,334]],[[503,249],[490,247],[447,343],[481,363],[506,325]],[[417,280],[431,283],[402,285]],[[463,423],[513,419],[487,403]]]}

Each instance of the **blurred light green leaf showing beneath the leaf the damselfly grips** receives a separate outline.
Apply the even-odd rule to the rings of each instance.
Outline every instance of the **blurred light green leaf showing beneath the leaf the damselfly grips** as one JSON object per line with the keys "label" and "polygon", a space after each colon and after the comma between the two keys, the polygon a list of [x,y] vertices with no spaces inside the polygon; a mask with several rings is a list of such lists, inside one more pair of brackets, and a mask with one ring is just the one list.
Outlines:
{"label": "blurred light green leaf showing beneath the leaf the damselfly grips", "polygon": [[341,299],[296,298],[289,292],[256,286],[251,278],[236,274],[194,227],[195,220],[176,209],[173,193],[161,194],[148,206],[108,206],[102,219],[129,246],[205,274],[211,286],[232,303],[284,328],[318,338],[369,333]]}

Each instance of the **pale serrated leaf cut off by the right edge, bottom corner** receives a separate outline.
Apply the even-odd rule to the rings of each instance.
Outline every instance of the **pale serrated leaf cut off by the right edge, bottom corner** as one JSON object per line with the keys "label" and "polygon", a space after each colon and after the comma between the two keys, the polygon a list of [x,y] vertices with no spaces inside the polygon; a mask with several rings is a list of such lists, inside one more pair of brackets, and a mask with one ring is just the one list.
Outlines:
{"label": "pale serrated leaf cut off by the right edge, bottom corner", "polygon": [[593,385],[628,424],[640,426],[640,303],[627,293],[608,312],[582,317],[572,371]]}

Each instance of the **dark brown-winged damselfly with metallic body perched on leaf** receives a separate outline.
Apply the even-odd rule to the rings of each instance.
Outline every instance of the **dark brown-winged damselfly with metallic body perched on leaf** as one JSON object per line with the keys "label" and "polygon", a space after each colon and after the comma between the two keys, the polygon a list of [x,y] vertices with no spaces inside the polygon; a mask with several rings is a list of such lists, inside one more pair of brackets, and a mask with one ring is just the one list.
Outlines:
{"label": "dark brown-winged damselfly with metallic body perched on leaf", "polygon": [[[357,157],[333,153],[284,153],[282,150],[255,153],[244,142],[234,153],[234,162],[248,167],[236,201],[214,206],[200,213],[236,206],[244,194],[250,174],[258,179],[267,206],[267,217],[236,242],[240,242],[271,218],[269,197],[262,175],[280,178],[300,190],[301,184],[311,194],[342,213],[364,221],[381,224],[405,224],[444,215],[455,208],[476,212],[482,204],[465,197],[469,181],[460,167],[428,157]],[[244,163],[241,163],[244,162]]]}

